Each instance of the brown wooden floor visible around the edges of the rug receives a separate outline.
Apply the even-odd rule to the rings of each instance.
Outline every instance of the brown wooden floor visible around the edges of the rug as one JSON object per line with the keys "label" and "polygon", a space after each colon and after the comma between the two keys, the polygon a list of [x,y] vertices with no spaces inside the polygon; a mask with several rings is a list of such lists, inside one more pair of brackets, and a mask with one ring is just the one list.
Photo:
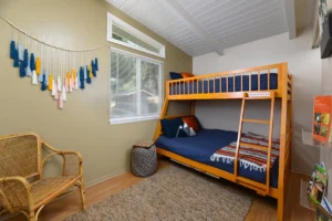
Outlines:
{"label": "brown wooden floor visible around the edges of the rug", "polygon": [[[159,168],[168,167],[170,164],[168,160],[159,160]],[[87,207],[100,202],[107,197],[115,194],[135,183],[144,178],[134,177],[131,172],[125,172],[115,178],[106,180],[102,183],[95,185],[86,189]],[[214,178],[211,178],[214,179]],[[290,185],[288,189],[288,198],[286,201],[286,221],[307,221],[314,220],[314,212],[308,210],[299,204],[300,202],[300,181],[301,179],[308,180],[309,177],[292,172]],[[228,182],[222,180],[222,182]],[[229,185],[235,185],[228,182]],[[238,187],[242,188],[242,187]],[[277,220],[277,200],[272,198],[261,197],[251,192],[247,189],[250,194],[252,194],[253,201],[246,217],[246,221],[272,221]],[[41,212],[39,221],[59,221],[71,214],[80,211],[80,196],[79,192],[64,197],[62,199],[55,200],[48,204]],[[1,218],[0,218],[1,220]],[[22,215],[17,215],[9,219],[10,221],[27,220]]]}

